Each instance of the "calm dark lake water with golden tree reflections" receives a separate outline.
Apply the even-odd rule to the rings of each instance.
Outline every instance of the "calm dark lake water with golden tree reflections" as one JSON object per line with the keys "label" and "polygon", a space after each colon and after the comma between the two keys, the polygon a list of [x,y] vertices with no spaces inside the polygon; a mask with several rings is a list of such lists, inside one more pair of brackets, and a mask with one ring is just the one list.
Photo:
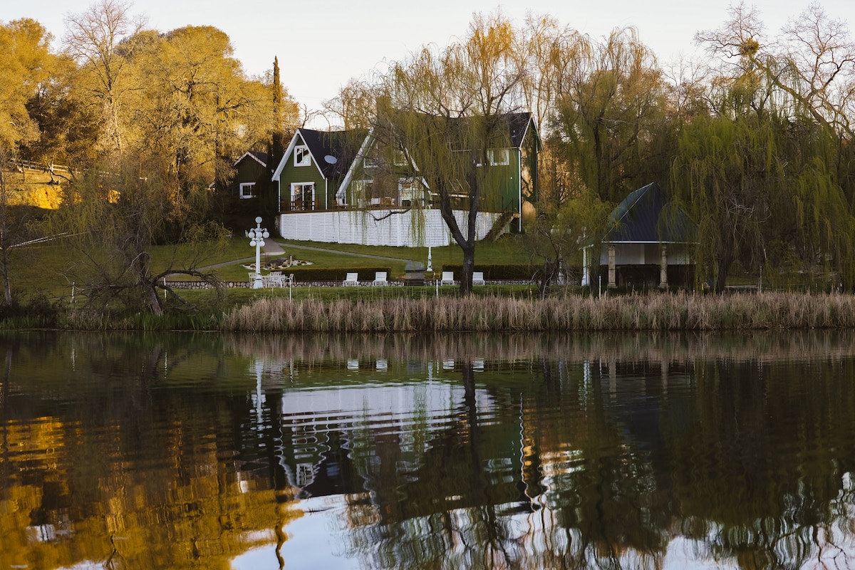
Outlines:
{"label": "calm dark lake water with golden tree reflections", "polygon": [[5,568],[855,568],[855,336],[0,335]]}

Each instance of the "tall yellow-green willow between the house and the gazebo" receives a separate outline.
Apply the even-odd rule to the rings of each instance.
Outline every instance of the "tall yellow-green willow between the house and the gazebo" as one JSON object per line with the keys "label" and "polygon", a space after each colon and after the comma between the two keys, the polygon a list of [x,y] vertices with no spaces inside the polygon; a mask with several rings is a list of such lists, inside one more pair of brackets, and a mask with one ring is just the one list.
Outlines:
{"label": "tall yellow-green willow between the house and the gazebo", "polygon": [[655,57],[633,28],[603,41],[563,44],[563,69],[551,115],[550,144],[565,170],[601,200],[620,202],[667,171],[660,136],[668,131],[665,85]]}

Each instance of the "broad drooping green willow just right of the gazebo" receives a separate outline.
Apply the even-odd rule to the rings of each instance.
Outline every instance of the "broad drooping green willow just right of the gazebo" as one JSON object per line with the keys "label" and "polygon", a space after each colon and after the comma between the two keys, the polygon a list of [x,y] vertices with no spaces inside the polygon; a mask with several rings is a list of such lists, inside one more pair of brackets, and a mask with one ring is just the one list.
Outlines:
{"label": "broad drooping green willow just right of the gazebo", "polygon": [[707,117],[681,133],[673,179],[699,220],[699,267],[716,291],[736,261],[821,268],[852,284],[855,218],[817,144],[773,114]]}

